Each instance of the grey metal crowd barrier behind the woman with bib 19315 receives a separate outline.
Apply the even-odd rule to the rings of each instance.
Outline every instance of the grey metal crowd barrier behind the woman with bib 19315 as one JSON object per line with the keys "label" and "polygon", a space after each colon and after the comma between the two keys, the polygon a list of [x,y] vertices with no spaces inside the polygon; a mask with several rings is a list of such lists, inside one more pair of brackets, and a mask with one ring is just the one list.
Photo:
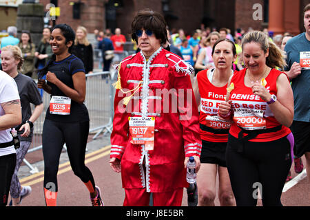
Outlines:
{"label": "grey metal crowd barrier behind the woman with bib 19315", "polygon": [[[114,70],[113,70],[114,71]],[[112,74],[111,74],[112,73]],[[111,75],[115,76],[114,72],[96,72],[86,74],[86,97],[85,106],[90,115],[90,135],[94,135],[93,140],[101,133],[106,135],[112,132],[112,120],[114,115],[113,100],[115,89],[112,86],[114,83]],[[50,104],[50,94],[43,92],[43,112],[34,122],[34,135],[32,144],[28,153],[38,151],[42,148],[42,131],[45,119],[45,113]],[[32,106],[32,111],[34,106]],[[66,150],[66,146],[64,146]],[[30,168],[30,173],[38,173],[37,167],[32,166],[30,162],[23,159],[23,162]]]}

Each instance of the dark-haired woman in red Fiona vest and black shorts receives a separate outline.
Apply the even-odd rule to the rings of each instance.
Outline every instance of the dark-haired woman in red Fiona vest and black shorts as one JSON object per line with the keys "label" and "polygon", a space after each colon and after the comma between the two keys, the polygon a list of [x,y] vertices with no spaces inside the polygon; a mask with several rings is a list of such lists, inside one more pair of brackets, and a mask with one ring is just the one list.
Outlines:
{"label": "dark-haired woman in red Fiona vest and black shorts", "polygon": [[214,206],[216,175],[219,178],[218,198],[221,206],[234,206],[225,161],[228,131],[231,122],[218,117],[218,105],[225,100],[227,82],[234,71],[236,47],[229,39],[219,39],[212,50],[214,69],[198,72],[194,83],[197,105],[200,105],[200,136],[203,149],[200,155],[200,172],[197,174],[198,205]]}

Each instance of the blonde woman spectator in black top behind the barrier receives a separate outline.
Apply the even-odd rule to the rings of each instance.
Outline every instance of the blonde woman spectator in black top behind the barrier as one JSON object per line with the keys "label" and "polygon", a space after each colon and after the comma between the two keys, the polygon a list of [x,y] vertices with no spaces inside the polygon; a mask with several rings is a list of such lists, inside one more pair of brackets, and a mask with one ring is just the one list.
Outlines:
{"label": "blonde woman spectator in black top behind the barrier", "polygon": [[83,26],[76,29],[76,39],[72,47],[72,54],[79,57],[84,64],[85,74],[92,74],[94,57],[92,44],[87,39],[87,30]]}

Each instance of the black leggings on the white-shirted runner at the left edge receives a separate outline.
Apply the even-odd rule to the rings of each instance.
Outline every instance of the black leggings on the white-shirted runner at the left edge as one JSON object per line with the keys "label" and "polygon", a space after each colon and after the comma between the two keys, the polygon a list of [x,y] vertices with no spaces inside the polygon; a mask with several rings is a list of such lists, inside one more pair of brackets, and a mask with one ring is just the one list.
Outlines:
{"label": "black leggings on the white-shirted runner at the left edge", "polygon": [[16,165],[16,153],[0,156],[0,206],[8,203],[12,175]]}

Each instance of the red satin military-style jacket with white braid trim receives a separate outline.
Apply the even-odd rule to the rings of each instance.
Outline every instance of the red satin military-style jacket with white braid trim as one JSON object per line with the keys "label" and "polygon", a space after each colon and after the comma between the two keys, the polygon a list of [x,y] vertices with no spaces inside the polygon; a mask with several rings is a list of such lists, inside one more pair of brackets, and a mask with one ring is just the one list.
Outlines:
{"label": "red satin military-style jacket with white braid trim", "polygon": [[[110,157],[121,159],[123,188],[168,192],[188,186],[184,159],[201,152],[193,71],[162,47],[148,60],[139,52],[118,65]],[[155,118],[154,150],[130,142],[128,117]]]}

